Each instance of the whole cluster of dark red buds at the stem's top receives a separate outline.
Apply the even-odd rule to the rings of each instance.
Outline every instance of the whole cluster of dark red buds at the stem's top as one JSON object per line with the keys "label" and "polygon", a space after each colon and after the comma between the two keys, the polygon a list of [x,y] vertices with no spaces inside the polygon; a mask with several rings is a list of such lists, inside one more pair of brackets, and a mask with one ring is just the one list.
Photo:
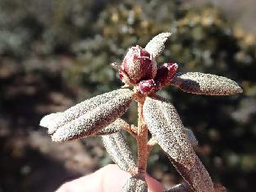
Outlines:
{"label": "whole cluster of dark red buds at the stem's top", "polygon": [[122,82],[135,85],[141,94],[149,94],[169,85],[177,69],[178,65],[171,62],[158,67],[153,54],[139,45],[129,49],[118,68]]}

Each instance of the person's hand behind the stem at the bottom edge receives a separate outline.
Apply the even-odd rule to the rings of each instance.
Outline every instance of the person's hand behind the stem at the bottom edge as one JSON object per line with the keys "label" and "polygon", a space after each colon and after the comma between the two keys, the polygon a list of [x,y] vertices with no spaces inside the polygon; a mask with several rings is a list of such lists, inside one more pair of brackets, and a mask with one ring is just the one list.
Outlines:
{"label": "person's hand behind the stem at the bottom edge", "polygon": [[[56,192],[119,192],[130,174],[122,171],[117,165],[110,164],[88,176],[66,182]],[[149,192],[160,192],[163,186],[146,174]]]}

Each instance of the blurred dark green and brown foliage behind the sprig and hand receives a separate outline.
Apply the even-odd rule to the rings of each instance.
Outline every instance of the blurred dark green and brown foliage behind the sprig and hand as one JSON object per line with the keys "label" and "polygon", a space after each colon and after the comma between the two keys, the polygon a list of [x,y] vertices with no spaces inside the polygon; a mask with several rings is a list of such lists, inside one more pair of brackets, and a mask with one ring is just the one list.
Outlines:
{"label": "blurred dark green and brown foliage behind the sprig and hand", "polygon": [[[223,75],[244,89],[213,97],[170,86],[159,94],[171,99],[194,131],[213,180],[229,191],[254,191],[255,34],[227,20],[225,9],[193,2],[204,1],[0,0],[0,191],[53,191],[111,162],[99,139],[51,143],[39,120],[117,89],[121,82],[109,64],[164,31],[173,34],[159,63]],[[135,110],[125,115],[133,124]],[[158,147],[149,172],[166,186],[181,181]]]}

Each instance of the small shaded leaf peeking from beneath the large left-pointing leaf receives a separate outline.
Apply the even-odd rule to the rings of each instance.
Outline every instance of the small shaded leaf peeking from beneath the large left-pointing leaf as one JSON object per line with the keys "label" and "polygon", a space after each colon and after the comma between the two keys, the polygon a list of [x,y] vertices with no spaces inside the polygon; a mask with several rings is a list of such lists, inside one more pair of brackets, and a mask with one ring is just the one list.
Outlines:
{"label": "small shaded leaf peeking from beneath the large left-pointing leaf", "polygon": [[94,133],[94,136],[102,136],[102,135],[110,135],[113,133],[117,133],[122,129],[122,127],[126,124],[126,121],[118,118],[116,121],[113,121],[112,124],[106,126],[103,130],[99,130]]}

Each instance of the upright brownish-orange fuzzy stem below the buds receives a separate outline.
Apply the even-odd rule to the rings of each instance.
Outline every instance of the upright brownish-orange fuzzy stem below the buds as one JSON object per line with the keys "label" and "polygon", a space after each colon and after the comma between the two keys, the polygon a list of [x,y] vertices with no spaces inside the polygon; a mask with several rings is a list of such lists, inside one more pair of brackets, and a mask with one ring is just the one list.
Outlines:
{"label": "upright brownish-orange fuzzy stem below the buds", "polygon": [[137,145],[138,145],[138,172],[145,173],[147,168],[148,159],[148,127],[144,122],[143,117],[144,99],[138,101],[138,132],[137,132]]}

